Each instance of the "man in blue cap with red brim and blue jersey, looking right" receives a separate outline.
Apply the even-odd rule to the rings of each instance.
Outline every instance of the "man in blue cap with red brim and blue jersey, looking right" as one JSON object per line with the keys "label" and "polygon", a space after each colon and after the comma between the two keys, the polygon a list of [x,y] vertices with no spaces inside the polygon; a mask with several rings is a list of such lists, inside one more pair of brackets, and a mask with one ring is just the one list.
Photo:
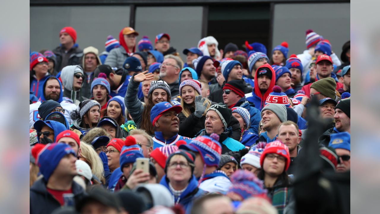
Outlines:
{"label": "man in blue cap with red brim and blue jersey, looking right", "polygon": [[165,145],[173,145],[179,140],[190,142],[192,139],[183,137],[179,132],[177,114],[182,112],[180,105],[173,106],[169,102],[155,104],[150,110],[150,122],[154,129],[153,149]]}

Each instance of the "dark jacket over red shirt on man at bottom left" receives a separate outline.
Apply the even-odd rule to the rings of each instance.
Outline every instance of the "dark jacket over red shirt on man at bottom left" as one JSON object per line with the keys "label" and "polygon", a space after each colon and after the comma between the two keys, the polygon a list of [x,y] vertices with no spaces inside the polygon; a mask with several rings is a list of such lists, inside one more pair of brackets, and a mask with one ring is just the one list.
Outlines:
{"label": "dark jacket over red shirt on man at bottom left", "polygon": [[[73,181],[72,191],[75,203],[78,203],[86,195],[83,188]],[[30,187],[30,214],[51,214],[55,209],[60,208],[61,204],[46,189],[45,180],[38,179]]]}

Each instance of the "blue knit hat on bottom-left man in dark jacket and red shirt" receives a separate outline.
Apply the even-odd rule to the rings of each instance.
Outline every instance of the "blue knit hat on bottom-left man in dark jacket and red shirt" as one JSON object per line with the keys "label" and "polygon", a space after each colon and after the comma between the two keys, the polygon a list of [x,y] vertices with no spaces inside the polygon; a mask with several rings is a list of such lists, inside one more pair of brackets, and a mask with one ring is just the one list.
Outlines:
{"label": "blue knit hat on bottom-left man in dark jacket and red shirt", "polygon": [[71,149],[69,145],[57,143],[46,144],[40,153],[38,153],[36,164],[40,168],[40,172],[46,182],[49,180],[55,168],[57,168],[61,159],[68,154],[72,154],[76,157],[74,150]]}

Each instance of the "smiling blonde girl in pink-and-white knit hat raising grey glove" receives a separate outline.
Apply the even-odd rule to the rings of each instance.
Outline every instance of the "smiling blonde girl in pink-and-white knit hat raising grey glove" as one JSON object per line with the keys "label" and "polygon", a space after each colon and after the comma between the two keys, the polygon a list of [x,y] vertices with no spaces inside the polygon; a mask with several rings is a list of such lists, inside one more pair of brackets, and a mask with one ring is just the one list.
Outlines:
{"label": "smiling blonde girl in pink-and-white knit hat raising grey glove", "polygon": [[185,80],[179,86],[182,112],[178,114],[179,134],[194,137],[204,129],[206,109],[211,105],[209,99],[201,94],[201,83],[198,80]]}

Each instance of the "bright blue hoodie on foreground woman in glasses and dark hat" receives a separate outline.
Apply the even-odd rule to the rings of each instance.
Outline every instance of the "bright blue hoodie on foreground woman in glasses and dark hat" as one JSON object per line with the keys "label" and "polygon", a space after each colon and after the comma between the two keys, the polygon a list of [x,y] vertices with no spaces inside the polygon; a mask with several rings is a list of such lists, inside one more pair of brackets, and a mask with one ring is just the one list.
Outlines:
{"label": "bright blue hoodie on foreground woman in glasses and dark hat", "polygon": [[166,179],[166,175],[162,177],[160,184],[168,188],[169,192],[173,195],[174,204],[179,203],[184,207],[185,214],[190,213],[193,207],[193,201],[196,198],[206,194],[206,192],[198,188],[198,180],[196,180],[194,175],[192,175],[189,184],[179,197],[174,196],[174,194],[171,192],[169,187],[169,180]]}

